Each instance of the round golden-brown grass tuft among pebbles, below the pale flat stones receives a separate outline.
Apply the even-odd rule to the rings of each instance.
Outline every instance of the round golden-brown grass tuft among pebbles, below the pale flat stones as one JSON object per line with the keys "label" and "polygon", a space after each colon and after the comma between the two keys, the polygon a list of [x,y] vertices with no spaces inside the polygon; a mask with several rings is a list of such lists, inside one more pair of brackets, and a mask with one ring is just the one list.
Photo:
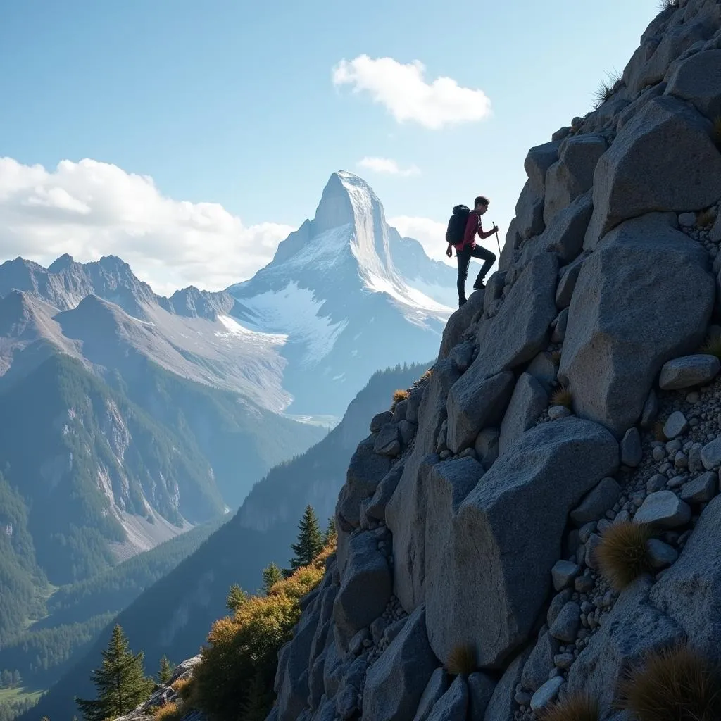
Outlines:
{"label": "round golden-brown grass tuft among pebbles, below the pale flat stones", "polygon": [[653,528],[644,523],[619,523],[601,537],[596,549],[598,568],[616,588],[622,590],[640,575],[653,571],[646,547]]}

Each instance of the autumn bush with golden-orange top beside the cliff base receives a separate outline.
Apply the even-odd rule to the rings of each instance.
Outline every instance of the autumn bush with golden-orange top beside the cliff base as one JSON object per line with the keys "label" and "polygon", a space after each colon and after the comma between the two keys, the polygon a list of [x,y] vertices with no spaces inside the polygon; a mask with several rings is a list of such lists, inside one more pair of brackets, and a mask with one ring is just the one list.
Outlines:
{"label": "autumn bush with golden-orange top beside the cliff base", "polygon": [[333,551],[331,542],[311,564],[275,583],[267,596],[250,596],[233,616],[213,624],[195,668],[193,707],[214,721],[245,721],[242,709],[257,708],[260,693],[270,707],[278,651],[300,618],[298,601],[322,580]]}

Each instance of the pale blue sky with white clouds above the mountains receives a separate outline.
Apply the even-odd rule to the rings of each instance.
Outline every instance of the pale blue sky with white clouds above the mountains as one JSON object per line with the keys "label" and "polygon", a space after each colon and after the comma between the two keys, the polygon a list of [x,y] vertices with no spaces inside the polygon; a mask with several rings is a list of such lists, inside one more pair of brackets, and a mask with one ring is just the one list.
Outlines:
{"label": "pale blue sky with white clouds above the mountains", "polygon": [[[0,253],[115,252],[160,290],[216,289],[267,262],[336,169],[371,182],[389,218],[416,218],[405,222],[427,247],[434,223],[477,193],[505,231],[528,148],[590,110],[657,11],[657,0],[6,1]],[[342,61],[350,81],[334,84]],[[413,61],[423,71],[404,68]],[[419,100],[438,77],[464,92]],[[480,92],[490,115],[451,122],[478,115]],[[358,165],[368,157],[412,172]]]}

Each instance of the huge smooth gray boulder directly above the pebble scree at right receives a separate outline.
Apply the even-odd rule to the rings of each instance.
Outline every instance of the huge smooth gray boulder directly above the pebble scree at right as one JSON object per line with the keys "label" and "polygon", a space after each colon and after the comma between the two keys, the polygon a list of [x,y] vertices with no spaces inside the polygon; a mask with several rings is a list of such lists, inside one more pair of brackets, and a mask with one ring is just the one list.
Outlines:
{"label": "huge smooth gray boulder directly above the pebble scree at right", "polygon": [[622,224],[585,260],[559,368],[578,415],[619,438],[636,425],[663,363],[704,337],[715,296],[707,265],[660,213]]}

